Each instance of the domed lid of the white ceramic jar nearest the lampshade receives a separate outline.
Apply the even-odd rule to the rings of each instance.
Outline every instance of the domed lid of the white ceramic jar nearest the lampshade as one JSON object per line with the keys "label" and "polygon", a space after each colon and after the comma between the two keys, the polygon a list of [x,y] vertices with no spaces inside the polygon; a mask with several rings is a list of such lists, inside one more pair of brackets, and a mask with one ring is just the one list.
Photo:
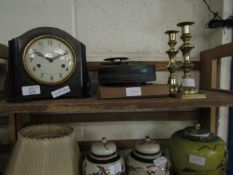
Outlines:
{"label": "domed lid of the white ceramic jar nearest the lampshade", "polygon": [[110,156],[116,153],[116,145],[103,137],[91,146],[91,153],[95,156]]}

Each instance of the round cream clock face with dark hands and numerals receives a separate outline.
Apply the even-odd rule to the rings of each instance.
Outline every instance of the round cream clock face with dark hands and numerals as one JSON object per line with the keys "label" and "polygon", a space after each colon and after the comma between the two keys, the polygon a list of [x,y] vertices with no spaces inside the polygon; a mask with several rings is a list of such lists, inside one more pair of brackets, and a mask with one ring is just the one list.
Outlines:
{"label": "round cream clock face with dark hands and numerals", "polygon": [[49,35],[33,39],[23,53],[23,66],[29,76],[48,85],[69,79],[76,60],[73,48],[65,40]]}

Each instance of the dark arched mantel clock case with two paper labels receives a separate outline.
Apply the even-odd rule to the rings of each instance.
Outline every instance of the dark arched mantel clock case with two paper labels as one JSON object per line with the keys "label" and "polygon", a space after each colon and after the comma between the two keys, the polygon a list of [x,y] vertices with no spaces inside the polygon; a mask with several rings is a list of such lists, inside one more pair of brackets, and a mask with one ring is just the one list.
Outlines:
{"label": "dark arched mantel clock case with two paper labels", "polygon": [[[76,64],[72,75],[67,80],[56,84],[41,83],[33,79],[24,68],[24,50],[35,38],[48,36],[59,38],[72,48]],[[48,62],[48,64],[50,64]],[[53,66],[51,64],[51,66]],[[23,87],[39,87],[36,94],[23,94]],[[52,28],[39,27],[9,41],[9,67],[7,78],[8,101],[34,100],[54,98],[52,92],[61,92],[60,97],[87,97],[90,87],[88,71],[86,68],[85,45],[67,32]],[[65,93],[62,90],[66,89]],[[67,90],[68,88],[68,90]]]}

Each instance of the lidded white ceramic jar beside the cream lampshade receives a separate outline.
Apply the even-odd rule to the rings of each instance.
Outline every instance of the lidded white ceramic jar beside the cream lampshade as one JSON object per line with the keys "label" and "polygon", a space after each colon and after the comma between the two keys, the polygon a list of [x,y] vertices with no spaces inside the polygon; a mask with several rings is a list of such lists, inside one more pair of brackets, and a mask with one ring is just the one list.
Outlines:
{"label": "lidded white ceramic jar beside the cream lampshade", "polygon": [[91,146],[91,151],[82,163],[82,175],[125,174],[123,157],[117,152],[113,142],[102,138]]}

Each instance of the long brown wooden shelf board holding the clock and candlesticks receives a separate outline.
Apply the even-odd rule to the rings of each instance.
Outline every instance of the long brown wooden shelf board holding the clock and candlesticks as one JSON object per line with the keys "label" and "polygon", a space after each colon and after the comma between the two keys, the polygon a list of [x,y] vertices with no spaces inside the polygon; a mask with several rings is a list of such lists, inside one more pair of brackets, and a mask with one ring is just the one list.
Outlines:
{"label": "long brown wooden shelf board holding the clock and candlesticks", "polygon": [[224,90],[203,91],[206,99],[181,100],[172,97],[99,100],[97,97],[83,99],[38,100],[9,103],[0,100],[1,113],[97,113],[153,111],[167,108],[205,108],[233,106],[233,92]]}

